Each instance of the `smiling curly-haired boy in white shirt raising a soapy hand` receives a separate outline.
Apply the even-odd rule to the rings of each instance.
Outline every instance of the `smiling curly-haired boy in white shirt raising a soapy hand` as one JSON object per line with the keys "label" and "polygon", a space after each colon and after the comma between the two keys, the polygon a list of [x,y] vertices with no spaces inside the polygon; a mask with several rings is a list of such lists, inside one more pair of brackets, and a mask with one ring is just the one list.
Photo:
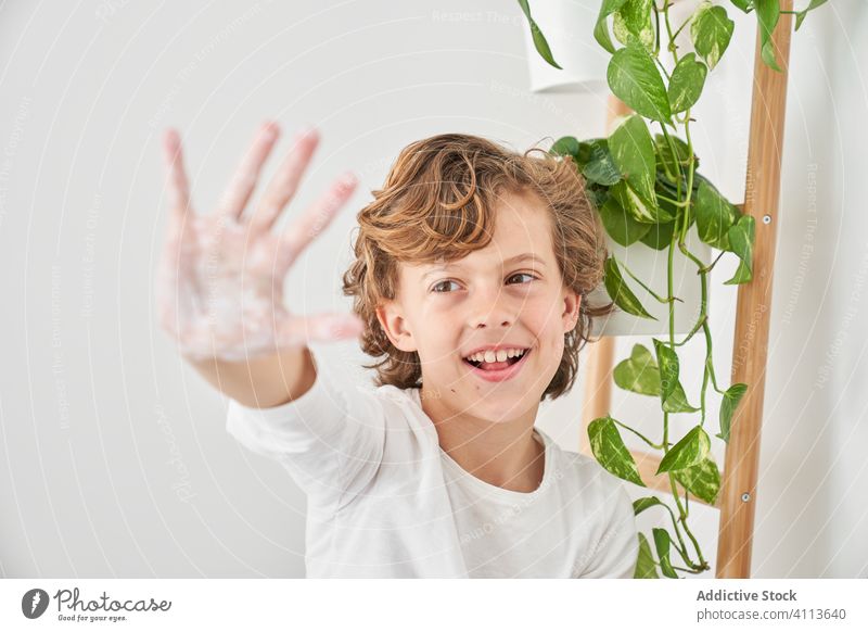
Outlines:
{"label": "smiling curly-haired boy in white shirt raising a soapy hand", "polygon": [[[575,166],[465,135],[412,143],[358,214],[354,314],[302,318],[282,280],[355,180],[273,235],[318,142],[301,132],[243,215],[277,136],[265,124],[219,212],[196,216],[166,135],[157,294],[183,356],[230,397],[228,431],[307,494],[307,576],[631,578],[623,484],[534,427],[611,308],[584,300],[605,248]],[[342,387],[307,346],[359,336],[379,358],[372,390]]]}

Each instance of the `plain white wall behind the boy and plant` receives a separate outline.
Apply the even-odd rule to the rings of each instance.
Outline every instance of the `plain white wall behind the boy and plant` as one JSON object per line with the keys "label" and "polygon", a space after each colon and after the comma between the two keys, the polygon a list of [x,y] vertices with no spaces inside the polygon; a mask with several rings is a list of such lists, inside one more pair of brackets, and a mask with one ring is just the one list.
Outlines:
{"label": "plain white wall behind the boy and plant", "polygon": [[[866,10],[834,4],[794,39],[755,577],[865,576],[868,559],[857,447],[864,307],[846,319],[865,277],[856,142],[866,49],[851,45]],[[159,132],[182,130],[194,202],[209,212],[261,119],[288,131],[316,124],[323,142],[290,215],[344,168],[362,186],[298,260],[286,295],[299,313],[346,309],[340,275],[355,212],[408,142],[465,131],[525,149],[602,134],[603,96],[528,93],[524,28],[514,2],[495,0],[0,8],[0,577],[303,574],[304,497],[279,465],[226,433],[226,402],[155,325]],[[745,41],[750,55],[751,34]],[[699,112],[709,136],[698,146],[703,172],[738,199],[750,77],[732,81],[715,100],[728,127],[719,112]],[[845,203],[855,206],[847,225]],[[730,269],[712,299],[724,381],[735,292],[720,281]],[[369,379],[348,368],[366,361],[355,345],[324,352],[346,379]],[[686,364],[699,366],[693,353]],[[819,385],[827,362],[833,377]],[[569,448],[580,404],[579,385],[540,419]],[[650,431],[653,408],[616,404]],[[716,514],[694,510],[713,560]]]}

